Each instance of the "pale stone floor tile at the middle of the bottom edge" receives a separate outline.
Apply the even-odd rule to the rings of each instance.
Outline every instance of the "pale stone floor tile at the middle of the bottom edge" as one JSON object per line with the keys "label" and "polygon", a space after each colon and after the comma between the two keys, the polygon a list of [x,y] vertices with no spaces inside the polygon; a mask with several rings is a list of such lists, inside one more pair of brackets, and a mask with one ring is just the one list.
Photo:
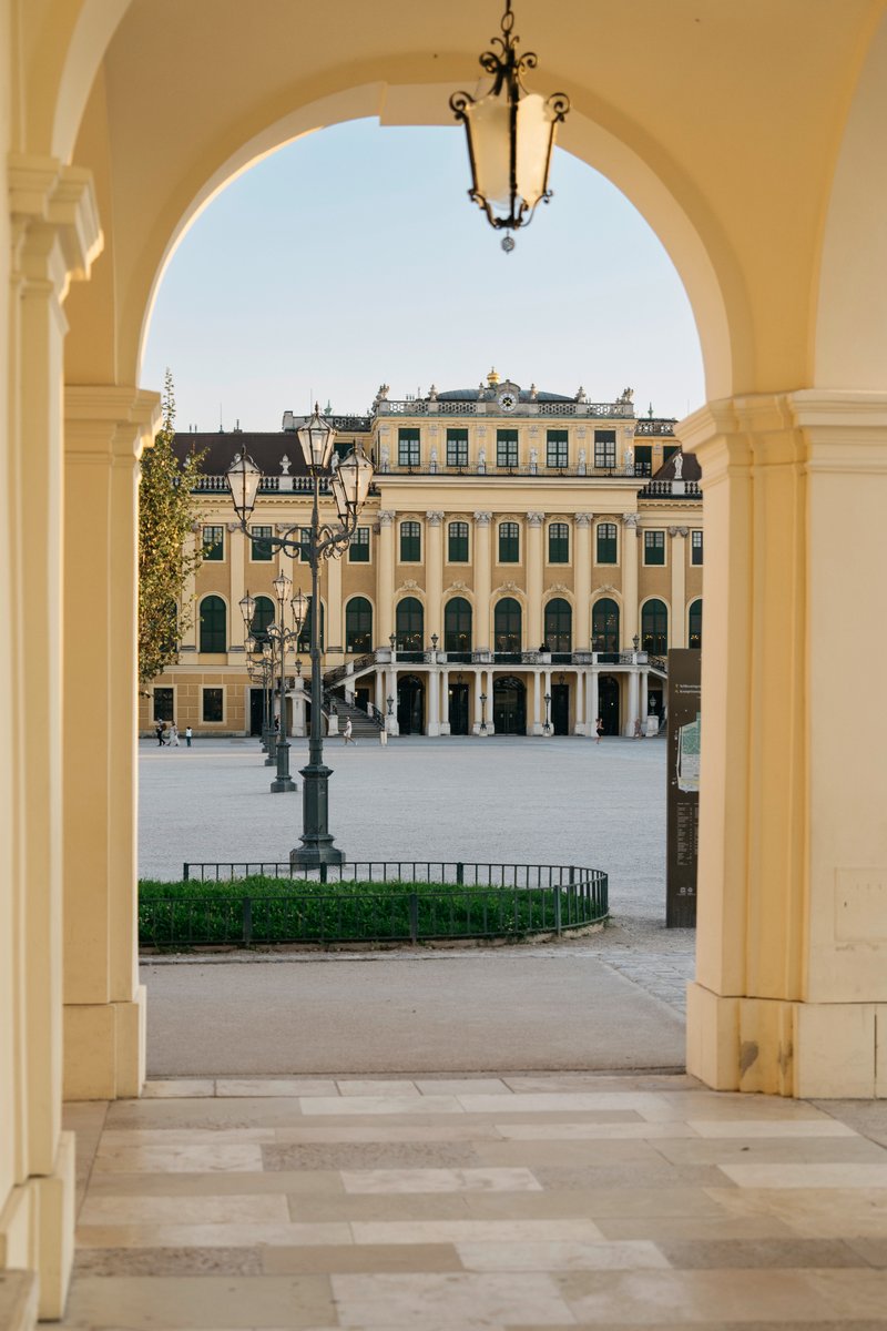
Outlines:
{"label": "pale stone floor tile at the middle of the bottom edge", "polygon": [[551,1276],[543,1274],[334,1275],[343,1327],[573,1326]]}

